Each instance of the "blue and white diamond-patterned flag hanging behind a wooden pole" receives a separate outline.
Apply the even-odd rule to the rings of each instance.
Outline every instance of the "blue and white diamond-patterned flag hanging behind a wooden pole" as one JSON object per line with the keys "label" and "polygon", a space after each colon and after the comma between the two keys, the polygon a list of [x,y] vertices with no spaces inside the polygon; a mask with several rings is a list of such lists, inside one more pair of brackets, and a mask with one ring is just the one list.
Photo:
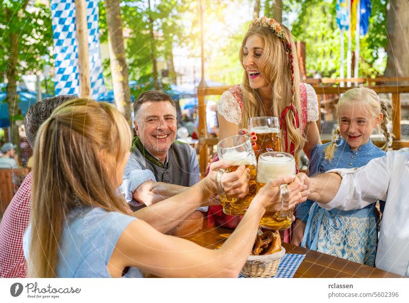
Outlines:
{"label": "blue and white diamond-patterned flag hanging behind a wooden pole", "polygon": [[[55,93],[78,94],[79,70],[75,27],[75,0],[51,0]],[[99,40],[98,0],[86,0],[88,60],[91,95],[96,99],[105,92]]]}

